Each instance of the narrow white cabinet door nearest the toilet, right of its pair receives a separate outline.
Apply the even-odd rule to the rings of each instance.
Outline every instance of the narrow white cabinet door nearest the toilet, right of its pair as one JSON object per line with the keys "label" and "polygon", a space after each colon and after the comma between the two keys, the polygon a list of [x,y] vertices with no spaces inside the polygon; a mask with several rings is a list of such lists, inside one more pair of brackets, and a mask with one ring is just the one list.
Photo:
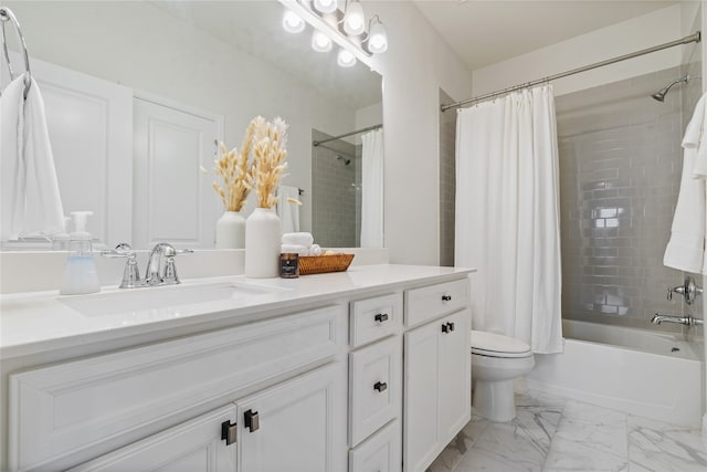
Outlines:
{"label": "narrow white cabinet door nearest the toilet, right of its pair", "polygon": [[440,333],[440,441],[449,443],[472,415],[471,310],[442,319],[449,328]]}

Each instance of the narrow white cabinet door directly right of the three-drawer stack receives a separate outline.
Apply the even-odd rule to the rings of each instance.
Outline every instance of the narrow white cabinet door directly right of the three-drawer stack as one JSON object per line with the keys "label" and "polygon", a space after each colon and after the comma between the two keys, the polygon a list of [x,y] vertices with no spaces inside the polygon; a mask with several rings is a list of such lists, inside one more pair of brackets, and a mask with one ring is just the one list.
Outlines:
{"label": "narrow white cabinet door directly right of the three-drawer stack", "polygon": [[403,469],[424,471],[437,454],[440,333],[435,321],[405,333]]}

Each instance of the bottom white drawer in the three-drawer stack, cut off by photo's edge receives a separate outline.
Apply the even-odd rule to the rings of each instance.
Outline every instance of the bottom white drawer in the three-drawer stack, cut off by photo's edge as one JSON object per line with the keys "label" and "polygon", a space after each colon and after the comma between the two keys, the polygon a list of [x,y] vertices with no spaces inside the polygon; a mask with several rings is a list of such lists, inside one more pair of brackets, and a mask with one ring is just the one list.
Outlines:
{"label": "bottom white drawer in the three-drawer stack, cut off by photo's edge", "polygon": [[349,471],[400,472],[401,431],[398,420],[386,424],[357,448],[349,451]]}

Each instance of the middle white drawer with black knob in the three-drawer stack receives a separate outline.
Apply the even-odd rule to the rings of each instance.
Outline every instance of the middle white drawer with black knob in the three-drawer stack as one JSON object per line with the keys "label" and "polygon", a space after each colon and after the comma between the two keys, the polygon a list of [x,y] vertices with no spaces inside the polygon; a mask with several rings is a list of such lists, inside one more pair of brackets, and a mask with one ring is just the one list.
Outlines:
{"label": "middle white drawer with black knob in the three-drawer stack", "polygon": [[402,340],[393,337],[349,354],[351,445],[397,418],[402,401]]}

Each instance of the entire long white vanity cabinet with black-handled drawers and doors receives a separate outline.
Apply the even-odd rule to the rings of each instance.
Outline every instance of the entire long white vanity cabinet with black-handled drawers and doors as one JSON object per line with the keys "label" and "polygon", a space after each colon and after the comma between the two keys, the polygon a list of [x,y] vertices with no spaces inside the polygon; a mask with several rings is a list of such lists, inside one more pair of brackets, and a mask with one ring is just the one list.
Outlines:
{"label": "entire long white vanity cabinet with black-handled drawers and doors", "polygon": [[18,355],[0,469],[422,471],[471,416],[467,273],[300,277],[285,301]]}

